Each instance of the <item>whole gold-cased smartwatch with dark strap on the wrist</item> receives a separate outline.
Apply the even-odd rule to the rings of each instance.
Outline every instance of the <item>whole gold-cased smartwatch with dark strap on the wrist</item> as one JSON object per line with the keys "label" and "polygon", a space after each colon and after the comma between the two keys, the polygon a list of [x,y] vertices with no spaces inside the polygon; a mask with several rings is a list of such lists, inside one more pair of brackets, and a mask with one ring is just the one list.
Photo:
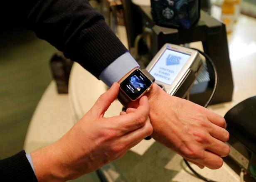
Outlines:
{"label": "whole gold-cased smartwatch with dark strap on the wrist", "polygon": [[135,69],[123,77],[119,83],[118,100],[126,107],[130,101],[136,101],[150,91],[155,78],[145,69]]}

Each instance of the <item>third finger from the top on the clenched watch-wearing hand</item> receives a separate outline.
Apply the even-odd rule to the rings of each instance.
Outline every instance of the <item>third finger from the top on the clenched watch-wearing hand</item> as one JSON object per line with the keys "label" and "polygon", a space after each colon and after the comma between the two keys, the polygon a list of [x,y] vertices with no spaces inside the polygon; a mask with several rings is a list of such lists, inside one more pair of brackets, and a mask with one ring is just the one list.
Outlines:
{"label": "third finger from the top on the clenched watch-wearing hand", "polygon": [[210,141],[206,149],[221,157],[225,157],[229,155],[229,150],[230,150],[229,145],[227,145],[226,143],[216,138],[212,138],[212,140]]}

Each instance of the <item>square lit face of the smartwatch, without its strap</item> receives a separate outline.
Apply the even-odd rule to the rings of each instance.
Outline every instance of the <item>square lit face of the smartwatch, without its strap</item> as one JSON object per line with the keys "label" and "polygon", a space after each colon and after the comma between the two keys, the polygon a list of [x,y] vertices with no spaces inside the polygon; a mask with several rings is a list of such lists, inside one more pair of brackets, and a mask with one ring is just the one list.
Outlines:
{"label": "square lit face of the smartwatch, without its strap", "polygon": [[120,84],[120,88],[132,99],[137,99],[152,85],[152,81],[139,69],[133,71]]}

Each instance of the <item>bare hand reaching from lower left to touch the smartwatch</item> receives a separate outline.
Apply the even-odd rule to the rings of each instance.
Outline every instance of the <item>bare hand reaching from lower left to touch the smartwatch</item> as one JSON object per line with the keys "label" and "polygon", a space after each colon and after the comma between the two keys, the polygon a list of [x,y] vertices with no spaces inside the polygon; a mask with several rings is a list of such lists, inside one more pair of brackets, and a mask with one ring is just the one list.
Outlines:
{"label": "bare hand reaching from lower left to touch the smartwatch", "polygon": [[39,181],[66,181],[97,170],[152,134],[146,96],[132,112],[103,117],[118,91],[114,83],[60,140],[31,153]]}

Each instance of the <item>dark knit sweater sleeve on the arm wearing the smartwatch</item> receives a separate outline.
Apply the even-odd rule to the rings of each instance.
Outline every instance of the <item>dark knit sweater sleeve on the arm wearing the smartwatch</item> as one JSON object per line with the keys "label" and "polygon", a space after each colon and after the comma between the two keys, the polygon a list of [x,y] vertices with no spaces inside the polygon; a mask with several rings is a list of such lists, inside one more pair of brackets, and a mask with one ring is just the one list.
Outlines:
{"label": "dark knit sweater sleeve on the arm wearing the smartwatch", "polygon": [[25,25],[97,78],[127,51],[88,0],[37,0],[27,7]]}

